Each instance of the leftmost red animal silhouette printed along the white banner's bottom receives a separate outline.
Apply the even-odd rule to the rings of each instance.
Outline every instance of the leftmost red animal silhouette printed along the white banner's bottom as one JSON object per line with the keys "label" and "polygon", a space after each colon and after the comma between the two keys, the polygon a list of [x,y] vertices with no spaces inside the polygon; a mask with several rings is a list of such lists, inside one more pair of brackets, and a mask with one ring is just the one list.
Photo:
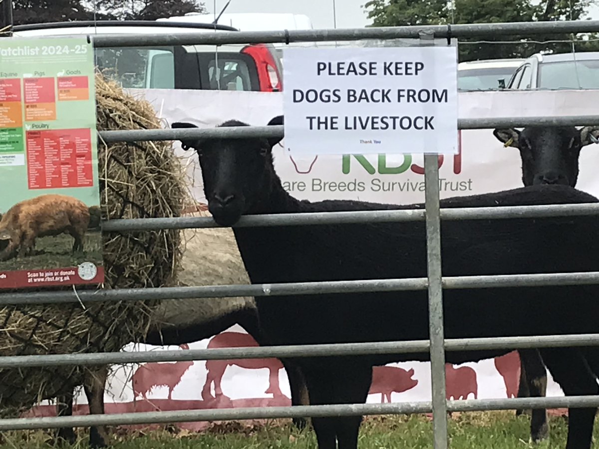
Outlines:
{"label": "leftmost red animal silhouette printed along the white banner's bottom", "polygon": [[[186,344],[180,345],[181,349],[189,349]],[[173,399],[173,390],[181,381],[183,374],[193,365],[189,362],[174,363],[146,363],[141,365],[133,375],[133,400],[138,396],[147,399],[153,387],[168,387],[168,399]]]}

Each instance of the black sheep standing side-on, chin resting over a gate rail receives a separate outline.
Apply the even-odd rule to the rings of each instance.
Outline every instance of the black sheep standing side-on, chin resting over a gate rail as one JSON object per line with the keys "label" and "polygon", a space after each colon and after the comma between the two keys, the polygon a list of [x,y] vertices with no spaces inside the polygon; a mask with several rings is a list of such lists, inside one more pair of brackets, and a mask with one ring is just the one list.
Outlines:
{"label": "black sheep standing side-on, chin resting over a gate rail", "polygon": [[[282,117],[269,125],[282,124]],[[193,125],[178,123],[173,128]],[[221,126],[247,126],[231,120]],[[243,214],[397,210],[423,205],[360,201],[299,201],[273,167],[280,139],[184,141],[198,151],[208,207],[219,225]],[[441,207],[598,202],[569,186],[539,184],[486,195],[449,198]],[[462,220],[441,226],[445,276],[595,271],[599,241],[595,217]],[[426,276],[423,222],[234,228],[253,284]],[[573,257],[573,254],[576,254]],[[599,286],[507,287],[444,292],[446,338],[594,333],[599,330]],[[563,298],[563,299],[562,299]],[[395,341],[428,338],[426,292],[373,292],[256,298],[270,344]],[[392,318],[391,318],[392,317]],[[510,351],[452,351],[447,362],[491,359]],[[599,351],[543,348],[543,362],[565,395],[597,395]],[[310,404],[365,402],[372,366],[429,360],[429,354],[296,359]],[[595,408],[569,411],[567,449],[591,445]],[[361,417],[313,418],[320,449],[357,447]]]}

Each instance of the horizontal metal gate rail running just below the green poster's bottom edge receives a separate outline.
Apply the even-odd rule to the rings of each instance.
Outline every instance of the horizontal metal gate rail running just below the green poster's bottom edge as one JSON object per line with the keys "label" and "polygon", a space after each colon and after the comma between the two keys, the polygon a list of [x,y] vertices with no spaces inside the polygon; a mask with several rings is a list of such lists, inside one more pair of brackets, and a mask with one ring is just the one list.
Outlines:
{"label": "horizontal metal gate rail running just below the green poster's bottom edge", "polygon": [[[574,273],[454,276],[443,278],[444,289],[573,286],[599,284],[599,271]],[[155,299],[233,298],[237,296],[296,296],[332,293],[400,292],[426,290],[426,278],[321,281],[228,286],[158,287],[62,292],[2,293],[0,305],[62,304],[69,302],[150,301]]]}

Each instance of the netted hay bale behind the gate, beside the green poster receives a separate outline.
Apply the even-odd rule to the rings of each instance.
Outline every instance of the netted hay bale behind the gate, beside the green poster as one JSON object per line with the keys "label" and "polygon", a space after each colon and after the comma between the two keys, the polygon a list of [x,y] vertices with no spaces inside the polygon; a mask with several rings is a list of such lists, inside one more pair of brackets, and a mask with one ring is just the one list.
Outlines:
{"label": "netted hay bale behind the gate, beside the green poster", "polygon": [[[152,105],[96,75],[97,126],[161,128]],[[101,210],[105,219],[177,217],[186,191],[171,142],[100,144]],[[104,288],[176,284],[180,232],[110,232],[104,241]],[[64,287],[62,287],[64,288]],[[84,287],[77,287],[83,289]],[[92,287],[95,288],[95,287]],[[119,351],[146,335],[154,301],[10,306],[0,309],[0,356]],[[16,415],[42,399],[72,392],[84,367],[0,370],[0,413]]]}

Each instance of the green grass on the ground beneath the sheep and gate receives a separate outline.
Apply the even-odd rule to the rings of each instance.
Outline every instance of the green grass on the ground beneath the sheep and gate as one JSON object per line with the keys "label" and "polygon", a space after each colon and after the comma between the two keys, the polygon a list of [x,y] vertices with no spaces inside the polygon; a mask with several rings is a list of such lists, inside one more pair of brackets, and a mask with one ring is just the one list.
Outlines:
{"label": "green grass on the ground beneath the sheep and gate", "polygon": [[[599,427],[595,424],[595,427]],[[595,429],[595,438],[599,432]],[[550,439],[530,444],[530,420],[515,417],[513,411],[454,414],[449,421],[452,449],[549,449],[564,448],[567,421],[550,417]],[[43,432],[8,432],[2,435],[0,449],[47,449],[49,436]],[[167,432],[113,432],[114,449],[316,449],[311,430],[299,432],[289,420],[273,420],[264,425],[244,427],[237,423],[213,424],[202,433],[186,430]],[[87,448],[87,432],[68,449]],[[432,424],[422,415],[410,417],[368,417],[362,424],[360,449],[432,448]]]}

